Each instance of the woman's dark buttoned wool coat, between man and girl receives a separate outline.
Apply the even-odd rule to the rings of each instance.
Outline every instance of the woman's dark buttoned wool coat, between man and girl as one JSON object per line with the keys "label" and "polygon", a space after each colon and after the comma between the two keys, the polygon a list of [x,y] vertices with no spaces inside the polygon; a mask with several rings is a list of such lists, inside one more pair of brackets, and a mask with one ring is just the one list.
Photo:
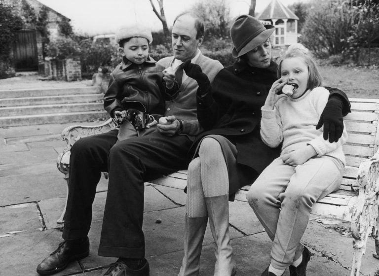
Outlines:
{"label": "woman's dark buttoned wool coat, between man and girl", "polygon": [[205,132],[196,138],[190,152],[210,134],[222,135],[236,145],[240,168],[235,181],[229,178],[229,194],[251,184],[280,154],[280,147],[272,149],[260,137],[261,107],[277,79],[276,68],[274,62],[267,69],[258,69],[239,60],[217,74],[212,91],[197,97],[197,118]]}

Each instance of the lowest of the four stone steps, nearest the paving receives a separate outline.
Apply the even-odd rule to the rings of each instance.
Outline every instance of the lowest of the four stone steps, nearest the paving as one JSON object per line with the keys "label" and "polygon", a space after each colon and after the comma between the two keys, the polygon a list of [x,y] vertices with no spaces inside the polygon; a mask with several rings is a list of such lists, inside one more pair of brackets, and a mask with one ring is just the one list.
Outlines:
{"label": "lowest of the four stone steps, nearest the paving", "polygon": [[109,118],[106,111],[85,111],[53,114],[35,114],[0,117],[0,127],[28,126],[41,124],[61,124],[67,122],[105,121]]}

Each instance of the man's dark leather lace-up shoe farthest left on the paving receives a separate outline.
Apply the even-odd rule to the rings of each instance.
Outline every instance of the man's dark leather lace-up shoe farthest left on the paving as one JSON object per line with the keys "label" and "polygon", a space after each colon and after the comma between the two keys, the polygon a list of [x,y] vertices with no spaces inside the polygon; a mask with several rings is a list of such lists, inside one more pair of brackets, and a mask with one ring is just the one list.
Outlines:
{"label": "man's dark leather lace-up shoe farthest left on the paving", "polygon": [[51,275],[64,270],[74,260],[79,260],[89,255],[89,240],[64,241],[58,248],[46,257],[37,267],[40,275]]}

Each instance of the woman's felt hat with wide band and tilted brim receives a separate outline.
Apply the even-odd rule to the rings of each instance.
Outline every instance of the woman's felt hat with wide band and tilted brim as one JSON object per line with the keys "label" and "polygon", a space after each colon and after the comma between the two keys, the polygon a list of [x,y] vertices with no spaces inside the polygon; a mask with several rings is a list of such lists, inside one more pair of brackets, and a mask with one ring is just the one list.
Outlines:
{"label": "woman's felt hat with wide band and tilted brim", "polygon": [[233,58],[238,58],[261,45],[275,31],[275,26],[263,25],[250,15],[239,16],[230,27],[230,37],[234,48]]}

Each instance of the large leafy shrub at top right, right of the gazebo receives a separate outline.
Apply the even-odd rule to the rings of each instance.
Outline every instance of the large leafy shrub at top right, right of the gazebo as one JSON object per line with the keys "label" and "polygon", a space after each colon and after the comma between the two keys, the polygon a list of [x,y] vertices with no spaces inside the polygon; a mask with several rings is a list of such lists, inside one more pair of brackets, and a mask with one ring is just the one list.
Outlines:
{"label": "large leafy shrub at top right, right of the gazebo", "polygon": [[376,0],[314,0],[301,43],[317,57],[342,54],[358,62],[360,49],[379,38],[378,14]]}

